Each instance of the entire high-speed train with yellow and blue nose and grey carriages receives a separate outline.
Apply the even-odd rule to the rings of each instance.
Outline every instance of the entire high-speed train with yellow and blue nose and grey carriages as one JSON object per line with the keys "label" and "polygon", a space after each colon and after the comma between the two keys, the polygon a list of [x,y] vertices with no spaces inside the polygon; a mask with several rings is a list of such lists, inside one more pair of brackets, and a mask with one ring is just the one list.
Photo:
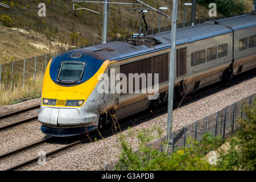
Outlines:
{"label": "entire high-speed train with yellow and blue nose and grey carriages", "polygon": [[[42,132],[57,137],[87,133],[110,123],[111,114],[121,119],[167,102],[170,39],[171,31],[167,31],[74,49],[53,57],[43,80],[38,116]],[[180,28],[176,34],[174,97],[230,80],[255,67],[255,13]],[[158,73],[158,96],[150,100],[152,92],[99,92],[106,81],[103,73],[114,78],[123,73],[128,80],[133,79],[129,73]],[[140,78],[141,91],[144,81]],[[119,81],[109,84],[109,90]],[[134,90],[129,81],[123,88]]]}

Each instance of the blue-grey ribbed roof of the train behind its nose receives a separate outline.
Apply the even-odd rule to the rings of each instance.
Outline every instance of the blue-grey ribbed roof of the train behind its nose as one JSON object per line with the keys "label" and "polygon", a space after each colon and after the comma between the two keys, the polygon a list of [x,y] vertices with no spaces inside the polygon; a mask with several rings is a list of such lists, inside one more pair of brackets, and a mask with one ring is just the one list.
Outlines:
{"label": "blue-grey ribbed roof of the train behind its nose", "polygon": [[[216,22],[210,21],[203,24],[197,24],[196,26],[177,29],[176,46],[211,38],[213,36],[227,34],[232,32],[230,27],[234,31],[254,27],[256,26],[256,15],[240,15],[232,18],[217,20]],[[134,46],[127,42],[115,41],[90,46],[85,49],[97,52],[97,54],[104,56],[105,59],[109,59],[110,61],[119,61],[171,47],[171,31],[160,32],[159,34],[149,35],[148,37],[158,40],[160,44],[148,47],[146,45]]]}

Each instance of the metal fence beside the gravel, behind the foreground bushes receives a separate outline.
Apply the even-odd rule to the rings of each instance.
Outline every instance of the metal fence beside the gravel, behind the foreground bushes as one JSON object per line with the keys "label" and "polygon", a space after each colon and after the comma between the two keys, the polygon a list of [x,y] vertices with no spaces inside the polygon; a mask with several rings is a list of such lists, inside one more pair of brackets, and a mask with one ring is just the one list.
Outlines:
{"label": "metal fence beside the gravel, behind the foreground bushes", "polygon": [[[230,135],[236,134],[237,130],[240,129],[238,126],[237,119],[246,118],[243,113],[243,104],[251,104],[256,93],[249,97],[243,98],[242,100],[235,102],[232,105],[226,106],[224,109],[217,111],[217,113],[210,114],[205,118],[199,119],[187,126],[182,127],[172,132],[172,140],[174,144],[169,145],[167,152],[169,155],[173,154],[177,148],[184,147],[188,138],[201,140],[203,135],[207,132],[212,133],[214,136],[220,136],[222,139],[227,138]],[[162,137],[155,142],[149,144],[160,151],[166,150],[166,145],[163,146],[163,142],[167,139]],[[114,170],[117,162],[105,166],[102,170]]]}

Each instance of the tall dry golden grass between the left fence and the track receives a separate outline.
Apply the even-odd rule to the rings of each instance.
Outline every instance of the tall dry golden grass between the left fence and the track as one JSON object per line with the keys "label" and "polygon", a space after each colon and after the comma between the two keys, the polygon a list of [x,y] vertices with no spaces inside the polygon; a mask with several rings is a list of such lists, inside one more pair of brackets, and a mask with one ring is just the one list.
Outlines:
{"label": "tall dry golden grass between the left fence and the track", "polygon": [[23,98],[35,97],[39,98],[42,92],[43,75],[38,74],[36,80],[31,78],[24,86],[22,81],[19,81],[13,89],[6,88],[5,85],[1,85],[0,88],[0,106],[15,104],[17,101]]}

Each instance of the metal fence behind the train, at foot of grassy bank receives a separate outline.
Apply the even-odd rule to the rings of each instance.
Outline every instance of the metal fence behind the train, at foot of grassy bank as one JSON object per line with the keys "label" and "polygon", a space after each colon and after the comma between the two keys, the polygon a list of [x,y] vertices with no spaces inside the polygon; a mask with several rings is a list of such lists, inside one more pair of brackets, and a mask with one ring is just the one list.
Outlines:
{"label": "metal fence behind the train, at foot of grassy bank", "polygon": [[[242,15],[242,14],[239,14],[239,15]],[[220,16],[220,17],[208,18],[208,19],[207,18],[197,19],[195,24],[204,23],[209,20],[229,18],[232,16],[237,16],[237,15],[230,15],[228,17]],[[185,22],[185,27],[187,26],[191,26],[191,22]],[[182,28],[182,27],[183,27],[183,22],[177,23],[177,28]],[[171,26],[160,28],[160,32],[170,31],[170,30],[171,30]],[[151,29],[148,32],[148,35],[157,34],[157,33],[159,33],[159,28]],[[132,35],[129,35],[127,37],[124,36],[121,38],[109,39],[108,42],[125,40],[126,38],[131,38],[131,36]],[[102,42],[96,42],[96,43],[93,43],[92,45],[84,45],[81,48],[94,46],[94,44],[100,44],[100,43]],[[13,86],[18,85],[18,83],[20,82],[22,82],[22,84],[24,85],[30,79],[35,79],[37,74],[44,75],[44,71],[46,69],[46,66],[49,60],[53,56],[61,52],[64,52],[64,51],[48,53],[46,55],[34,56],[24,60],[18,60],[18,61],[13,61],[11,63],[0,64],[0,88],[1,88],[1,84],[4,84],[7,88],[10,88],[10,87],[13,88]]]}

